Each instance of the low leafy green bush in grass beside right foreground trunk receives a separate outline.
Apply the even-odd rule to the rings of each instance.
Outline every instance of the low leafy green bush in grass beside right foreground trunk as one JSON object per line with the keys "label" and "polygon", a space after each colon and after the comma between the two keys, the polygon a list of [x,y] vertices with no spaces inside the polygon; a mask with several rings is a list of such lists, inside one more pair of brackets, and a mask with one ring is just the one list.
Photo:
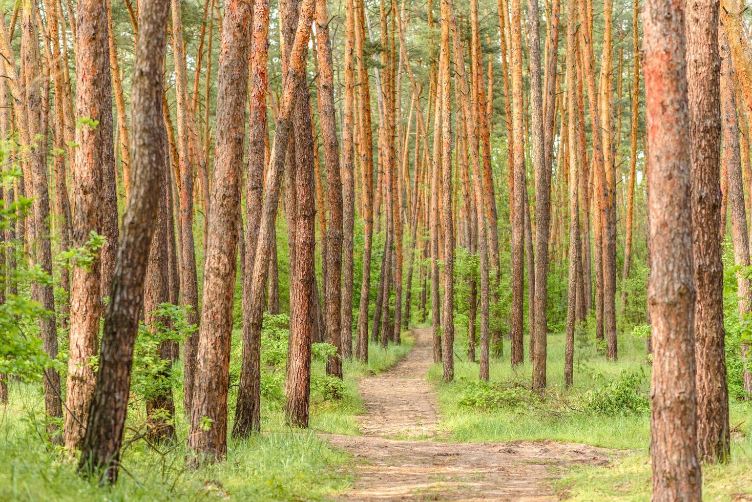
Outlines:
{"label": "low leafy green bush in grass beside right foreground trunk", "polygon": [[[603,379],[603,376],[594,376]],[[644,370],[622,371],[614,380],[580,396],[581,406],[589,413],[608,416],[627,416],[647,413],[650,401],[640,387],[647,380]]]}

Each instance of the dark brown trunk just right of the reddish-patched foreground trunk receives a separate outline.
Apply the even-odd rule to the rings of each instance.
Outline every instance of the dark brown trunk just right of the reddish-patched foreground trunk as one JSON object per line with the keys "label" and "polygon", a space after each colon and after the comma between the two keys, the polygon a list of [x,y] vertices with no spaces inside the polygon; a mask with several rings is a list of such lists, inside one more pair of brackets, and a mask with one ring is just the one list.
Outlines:
{"label": "dark brown trunk just right of the reddish-patched foreground trunk", "polygon": [[[718,2],[687,2],[686,8],[687,101],[692,145],[692,254],[696,288],[697,446],[700,460],[713,461],[720,460],[728,451],[729,434],[723,349],[726,336],[723,329],[723,262],[718,227],[721,131]],[[733,87],[729,86],[726,92],[733,92]],[[733,134],[738,138],[738,128]],[[735,168],[738,168],[741,183],[741,165],[737,163]]]}

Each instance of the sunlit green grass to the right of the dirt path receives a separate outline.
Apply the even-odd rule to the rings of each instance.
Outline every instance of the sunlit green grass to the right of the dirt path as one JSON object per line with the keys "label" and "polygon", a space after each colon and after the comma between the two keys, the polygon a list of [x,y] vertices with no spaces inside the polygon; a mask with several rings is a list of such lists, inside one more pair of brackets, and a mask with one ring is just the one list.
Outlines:
{"label": "sunlit green grass to the right of the dirt path", "polygon": [[[619,338],[619,361],[605,359],[602,348],[590,342],[593,333],[585,330],[575,339],[574,386],[563,385],[564,335],[548,335],[547,395],[522,405],[473,410],[462,406],[462,398],[478,380],[478,364],[464,361],[466,341],[460,337],[456,353],[455,380],[441,382],[441,366],[434,364],[428,374],[438,391],[440,427],[445,438],[458,442],[506,440],[556,440],[585,443],[621,450],[608,466],[575,466],[563,471],[556,481],[562,497],[573,500],[650,500],[650,415],[649,413],[598,414],[581,407],[581,398],[604,383],[617,379],[623,371],[642,373],[638,392],[649,391],[650,365],[644,340],[629,333]],[[523,386],[529,389],[532,365],[528,361],[511,368],[506,356],[493,359],[490,382],[496,389]],[[523,391],[526,392],[526,391]],[[524,394],[529,395],[529,393]],[[575,410],[569,407],[575,408]],[[736,494],[752,494],[752,406],[734,399],[730,402],[732,455],[727,464],[703,467],[703,494],[706,500],[732,500]],[[559,473],[561,474],[561,473]],[[746,499],[745,499],[746,500]]]}

